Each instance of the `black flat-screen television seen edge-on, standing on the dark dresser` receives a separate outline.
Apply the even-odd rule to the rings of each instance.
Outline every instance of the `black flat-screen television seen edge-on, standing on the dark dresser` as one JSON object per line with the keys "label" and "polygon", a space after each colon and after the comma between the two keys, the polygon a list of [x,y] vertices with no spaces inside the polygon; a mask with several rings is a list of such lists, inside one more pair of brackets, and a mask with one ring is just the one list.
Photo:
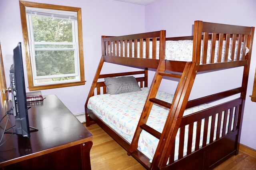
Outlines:
{"label": "black flat-screen television seen edge-on, standing on the dark dresser", "polygon": [[21,43],[13,50],[14,64],[10,68],[10,81],[12,88],[12,109],[15,117],[16,134],[30,137],[28,121],[28,107],[22,62]]}

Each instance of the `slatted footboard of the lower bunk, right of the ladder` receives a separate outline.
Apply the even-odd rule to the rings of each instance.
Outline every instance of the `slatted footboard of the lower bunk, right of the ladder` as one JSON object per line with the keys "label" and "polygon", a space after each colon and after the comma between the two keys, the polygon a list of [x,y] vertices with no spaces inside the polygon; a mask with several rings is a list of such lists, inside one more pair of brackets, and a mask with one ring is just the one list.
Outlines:
{"label": "slatted footboard of the lower bunk, right of the ladder", "polygon": [[[180,119],[180,135],[179,135],[179,149],[178,149],[178,160],[184,158],[187,155],[196,152],[199,149],[206,147],[207,145],[216,142],[217,140],[229,135],[233,131],[237,131],[237,120],[238,120],[238,110],[239,106],[242,104],[242,98],[237,98],[230,102],[220,104],[202,111],[198,111],[191,115],[184,116]],[[217,125],[215,125],[217,122]],[[194,125],[196,123],[196,125]],[[188,126],[188,134],[185,135],[185,127]],[[201,129],[202,127],[202,129]],[[210,132],[208,132],[208,127],[210,127]],[[193,128],[196,129],[196,139],[194,148],[192,150],[193,144]],[[210,139],[207,141],[207,135],[210,133]],[[186,137],[185,137],[186,136]],[[202,147],[200,147],[200,137],[202,139]],[[184,139],[187,139],[185,141]],[[184,143],[187,143],[187,148],[184,148]],[[170,150],[173,144],[170,144]],[[233,145],[234,149],[235,145]],[[186,154],[184,152],[186,150]],[[223,155],[222,155],[223,156]],[[174,163],[174,152],[171,152],[169,157],[169,164]]]}

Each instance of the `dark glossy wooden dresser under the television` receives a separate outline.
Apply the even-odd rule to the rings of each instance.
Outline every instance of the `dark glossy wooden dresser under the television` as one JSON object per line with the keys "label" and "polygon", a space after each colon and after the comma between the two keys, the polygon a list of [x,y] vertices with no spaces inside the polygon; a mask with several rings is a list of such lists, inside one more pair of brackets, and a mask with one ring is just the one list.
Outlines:
{"label": "dark glossy wooden dresser under the television", "polygon": [[[38,131],[31,132],[30,138],[4,134],[2,141],[10,139],[0,146],[0,169],[90,170],[92,134],[55,95],[45,97],[43,104],[28,109],[30,126]],[[6,108],[10,106],[6,102]],[[10,118],[14,125],[13,115]],[[1,122],[0,135],[6,120]]]}

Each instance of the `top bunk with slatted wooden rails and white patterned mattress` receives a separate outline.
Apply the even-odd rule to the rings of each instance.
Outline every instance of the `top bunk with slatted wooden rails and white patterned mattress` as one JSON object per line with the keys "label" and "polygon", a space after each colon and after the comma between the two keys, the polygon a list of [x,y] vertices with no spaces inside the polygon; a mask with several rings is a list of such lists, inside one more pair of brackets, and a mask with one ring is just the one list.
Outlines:
{"label": "top bunk with slatted wooden rails and white patterned mattress", "polygon": [[200,64],[200,71],[245,66],[250,59],[254,27],[194,22],[194,36],[166,37],[154,31],[117,37],[102,36],[105,62],[182,72],[186,62]]}

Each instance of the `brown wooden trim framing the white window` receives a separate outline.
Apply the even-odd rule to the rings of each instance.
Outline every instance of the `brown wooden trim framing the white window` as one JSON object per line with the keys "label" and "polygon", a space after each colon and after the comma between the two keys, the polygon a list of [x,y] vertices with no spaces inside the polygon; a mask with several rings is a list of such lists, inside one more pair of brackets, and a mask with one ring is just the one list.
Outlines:
{"label": "brown wooden trim framing the white window", "polygon": [[[20,3],[20,18],[21,18],[21,25],[22,25],[22,34],[23,34],[23,41],[24,41],[25,55],[26,55],[26,68],[27,68],[27,74],[28,74],[28,88],[29,88],[29,90],[34,91],[34,90],[44,90],[44,89],[84,85],[86,81],[84,79],[84,52],[83,52],[83,39],[82,39],[82,13],[81,13],[81,8],[69,7],[69,6],[60,6],[60,5],[52,5],[52,4],[42,4],[42,3],[28,2],[28,1],[22,1],[22,0],[20,0],[19,3]],[[30,59],[30,51],[29,51],[29,49],[30,49],[29,44],[30,43],[29,43],[28,27],[27,27],[27,20],[26,20],[26,9],[25,9],[26,7],[77,12],[80,81],[34,86],[33,74],[32,74],[32,65],[31,65],[32,61]]]}

